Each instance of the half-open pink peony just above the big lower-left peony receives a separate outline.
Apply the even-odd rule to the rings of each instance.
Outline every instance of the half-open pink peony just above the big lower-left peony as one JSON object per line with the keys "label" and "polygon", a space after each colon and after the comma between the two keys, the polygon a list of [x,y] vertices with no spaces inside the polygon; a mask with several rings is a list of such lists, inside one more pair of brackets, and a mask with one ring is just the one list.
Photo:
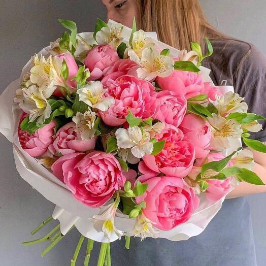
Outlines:
{"label": "half-open pink peony just above the big lower-left peony", "polygon": [[54,155],[60,156],[75,151],[84,152],[93,150],[96,137],[91,140],[82,140],[78,132],[75,131],[76,124],[70,122],[62,126],[55,135],[54,142],[49,145],[49,151]]}

